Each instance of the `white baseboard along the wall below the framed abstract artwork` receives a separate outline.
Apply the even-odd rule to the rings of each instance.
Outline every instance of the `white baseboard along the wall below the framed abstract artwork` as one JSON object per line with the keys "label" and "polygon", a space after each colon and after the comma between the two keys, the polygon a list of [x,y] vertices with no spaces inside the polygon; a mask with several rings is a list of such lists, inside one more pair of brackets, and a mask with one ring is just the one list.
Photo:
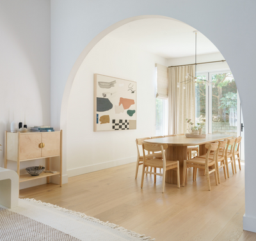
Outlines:
{"label": "white baseboard along the wall below the framed abstract artwork", "polygon": [[[99,171],[99,170],[107,169],[110,167],[121,166],[131,162],[136,162],[136,160],[137,160],[137,156],[129,157],[125,159],[119,159],[119,160],[111,160],[109,162],[102,162],[102,163],[94,164],[90,166],[83,166],[79,168],[69,169],[67,170],[67,175],[68,177],[71,177],[71,176],[82,175],[85,173],[92,173],[93,171]],[[135,166],[134,166],[134,171],[135,171]]]}

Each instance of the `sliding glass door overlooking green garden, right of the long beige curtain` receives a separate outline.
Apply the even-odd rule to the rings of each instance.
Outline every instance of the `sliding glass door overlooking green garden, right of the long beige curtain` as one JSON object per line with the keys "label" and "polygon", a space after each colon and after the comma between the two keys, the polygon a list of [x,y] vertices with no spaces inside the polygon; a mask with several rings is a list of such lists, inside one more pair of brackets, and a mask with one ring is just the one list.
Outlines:
{"label": "sliding glass door overlooking green garden, right of the long beige curtain", "polygon": [[[205,122],[203,133],[237,135],[240,116],[237,88],[231,72],[206,72],[197,75],[196,123]],[[209,81],[207,84],[205,81]]]}

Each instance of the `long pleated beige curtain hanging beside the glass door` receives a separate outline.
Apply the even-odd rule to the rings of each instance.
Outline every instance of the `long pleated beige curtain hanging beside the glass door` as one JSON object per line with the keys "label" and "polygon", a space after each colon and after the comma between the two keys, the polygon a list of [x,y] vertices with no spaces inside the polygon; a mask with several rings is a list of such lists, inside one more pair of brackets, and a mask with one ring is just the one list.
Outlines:
{"label": "long pleated beige curtain hanging beside the glass door", "polygon": [[177,88],[177,82],[185,81],[187,73],[195,76],[195,65],[168,68],[169,134],[186,133],[187,118],[195,123],[195,83],[180,84]]}

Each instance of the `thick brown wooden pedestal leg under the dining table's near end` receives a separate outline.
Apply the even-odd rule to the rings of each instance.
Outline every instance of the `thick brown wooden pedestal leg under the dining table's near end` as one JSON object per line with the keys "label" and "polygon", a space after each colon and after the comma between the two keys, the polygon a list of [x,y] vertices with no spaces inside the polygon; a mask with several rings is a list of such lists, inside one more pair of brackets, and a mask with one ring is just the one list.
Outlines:
{"label": "thick brown wooden pedestal leg under the dining table's near end", "polygon": [[[167,160],[179,160],[180,162],[180,183],[183,178],[183,162],[187,159],[187,146],[168,146],[166,150]],[[166,171],[165,182],[177,184],[177,172],[175,170]],[[187,178],[186,178],[187,182]]]}

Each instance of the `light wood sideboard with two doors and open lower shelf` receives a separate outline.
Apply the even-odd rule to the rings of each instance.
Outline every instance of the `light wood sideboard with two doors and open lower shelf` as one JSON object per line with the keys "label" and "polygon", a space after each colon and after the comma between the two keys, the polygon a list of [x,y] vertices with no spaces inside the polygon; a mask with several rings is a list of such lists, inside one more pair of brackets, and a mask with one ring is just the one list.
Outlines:
{"label": "light wood sideboard with two doors and open lower shelf", "polygon": [[[44,159],[45,170],[50,168],[50,158],[60,157],[60,171],[56,173],[42,172],[38,176],[29,174],[20,175],[20,162]],[[56,132],[25,132],[12,133],[5,132],[4,146],[4,168],[7,168],[7,161],[17,162],[17,173],[19,182],[26,182],[38,178],[47,178],[50,182],[50,176],[60,176],[60,187],[62,185],[62,130]],[[31,166],[31,165],[30,165]],[[28,164],[29,167],[29,164]]]}

